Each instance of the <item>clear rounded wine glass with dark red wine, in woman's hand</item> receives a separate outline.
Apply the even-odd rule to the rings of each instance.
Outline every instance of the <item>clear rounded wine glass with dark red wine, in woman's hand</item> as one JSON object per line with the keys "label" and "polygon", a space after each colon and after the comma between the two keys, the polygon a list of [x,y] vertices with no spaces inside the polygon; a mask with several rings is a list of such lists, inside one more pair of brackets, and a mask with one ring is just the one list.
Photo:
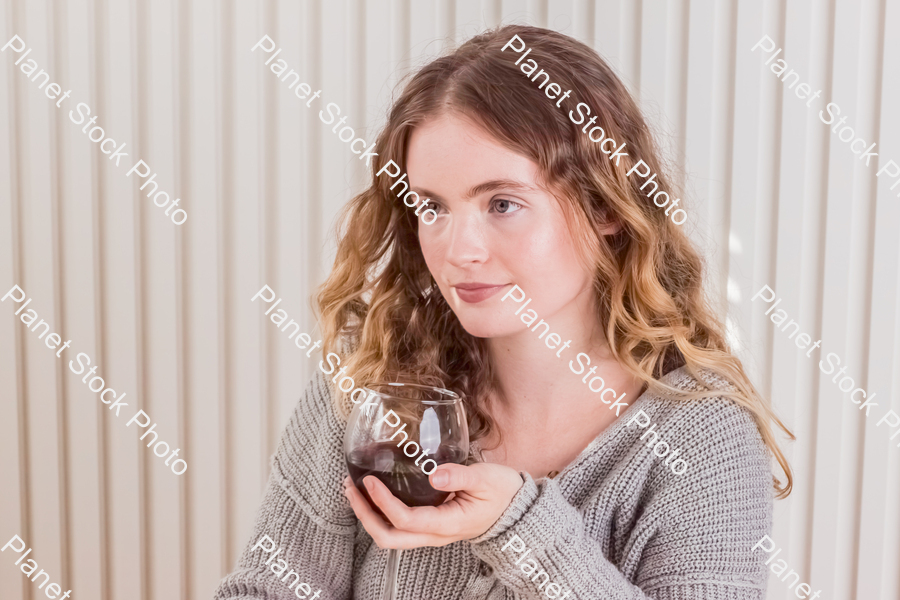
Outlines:
{"label": "clear rounded wine glass with dark red wine, in woman's hand", "polygon": [[[407,506],[437,506],[450,495],[428,482],[437,465],[463,464],[469,428],[462,398],[442,388],[411,383],[374,383],[353,398],[344,435],[344,457],[356,488],[379,513],[363,485],[377,477]],[[400,550],[391,549],[384,600],[396,600]]]}

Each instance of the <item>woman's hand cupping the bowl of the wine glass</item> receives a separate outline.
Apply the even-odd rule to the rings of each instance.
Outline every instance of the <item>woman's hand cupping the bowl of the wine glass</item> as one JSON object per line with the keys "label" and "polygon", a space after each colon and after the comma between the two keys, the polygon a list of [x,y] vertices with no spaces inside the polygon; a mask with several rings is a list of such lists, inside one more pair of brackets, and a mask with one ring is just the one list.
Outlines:
{"label": "woman's hand cupping the bowl of the wine glass", "polygon": [[344,493],[380,548],[407,549],[478,537],[497,522],[524,483],[515,469],[492,463],[443,464],[429,481],[433,488],[455,494],[439,506],[409,507],[376,477],[363,480],[372,501],[391,523],[372,510],[349,477],[344,480]]}

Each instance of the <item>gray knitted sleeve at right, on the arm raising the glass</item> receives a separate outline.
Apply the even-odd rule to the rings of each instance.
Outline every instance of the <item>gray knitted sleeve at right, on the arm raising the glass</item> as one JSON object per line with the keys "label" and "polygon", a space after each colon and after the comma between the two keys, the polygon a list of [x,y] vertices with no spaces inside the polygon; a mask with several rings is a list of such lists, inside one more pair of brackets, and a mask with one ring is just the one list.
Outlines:
{"label": "gray knitted sleeve at right, on the arm raising the glass", "polygon": [[[723,399],[676,412],[658,419],[682,456],[692,457],[686,473],[674,475],[635,439],[623,459],[623,472],[633,475],[617,482],[615,502],[606,498],[605,520],[596,515],[603,511],[599,492],[579,510],[557,481],[537,483],[523,473],[506,512],[471,541],[473,552],[529,600],[763,599],[765,556],[751,548],[771,528],[773,480],[756,425]],[[547,575],[534,575],[538,568]]]}

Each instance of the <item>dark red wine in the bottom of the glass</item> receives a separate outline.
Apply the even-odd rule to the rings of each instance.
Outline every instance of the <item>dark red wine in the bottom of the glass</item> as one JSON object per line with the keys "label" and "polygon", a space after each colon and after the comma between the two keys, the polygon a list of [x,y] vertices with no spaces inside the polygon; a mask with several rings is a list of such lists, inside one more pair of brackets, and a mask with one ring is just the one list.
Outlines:
{"label": "dark red wine in the bottom of the glass", "polygon": [[[447,499],[450,492],[442,492],[431,487],[428,475],[422,471],[420,465],[429,458],[439,465],[448,462],[462,463],[466,458],[465,453],[454,448],[441,448],[434,454],[429,453],[428,456],[422,457],[418,465],[415,463],[417,457],[418,455],[412,458],[406,456],[403,454],[403,447],[398,447],[394,442],[379,442],[352,451],[347,458],[347,468],[356,489],[362,492],[378,513],[381,511],[369,498],[363,485],[363,479],[367,475],[377,477],[407,506],[437,506]],[[431,470],[433,467],[434,465],[429,463],[428,469]]]}

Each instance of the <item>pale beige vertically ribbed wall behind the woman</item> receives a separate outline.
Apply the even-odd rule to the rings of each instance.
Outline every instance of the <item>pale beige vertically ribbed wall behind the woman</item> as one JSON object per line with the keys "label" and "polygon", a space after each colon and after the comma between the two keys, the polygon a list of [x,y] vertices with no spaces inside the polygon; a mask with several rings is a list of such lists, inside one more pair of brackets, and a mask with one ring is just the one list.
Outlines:
{"label": "pale beige vertically ribbed wall behind the woman", "polygon": [[[798,440],[776,507],[781,557],[821,598],[900,598],[900,199],[765,71],[768,33],[900,162],[898,0],[2,0],[0,34],[72,96],[57,109],[0,55],[0,291],[72,340],[57,359],[0,306],[0,542],[73,598],[210,597],[247,541],[287,415],[316,359],[266,323],[263,284],[315,327],[331,226],[365,171],[250,48],[269,34],[372,138],[411,65],[502,18],[592,44],[639,93],[673,165],[685,227],[760,388]],[[176,226],[69,121],[77,102],[188,212]],[[320,106],[321,107],[321,106]],[[880,406],[864,418],[773,331],[763,285]],[[116,417],[69,371],[78,352],[126,392]],[[815,357],[815,355],[814,355]],[[892,368],[893,367],[893,368]],[[142,447],[138,408],[189,467]],[[0,554],[0,590],[31,584]],[[770,581],[769,598],[791,596]],[[36,596],[35,596],[36,597]]]}

